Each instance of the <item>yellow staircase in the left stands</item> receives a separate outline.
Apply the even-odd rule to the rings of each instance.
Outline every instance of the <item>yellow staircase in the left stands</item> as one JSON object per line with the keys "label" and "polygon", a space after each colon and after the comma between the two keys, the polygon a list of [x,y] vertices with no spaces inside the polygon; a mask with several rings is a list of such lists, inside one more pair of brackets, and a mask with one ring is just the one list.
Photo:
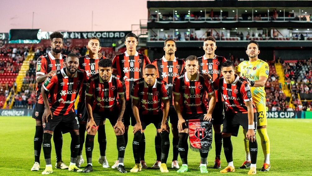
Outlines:
{"label": "yellow staircase in the left stands", "polygon": [[[3,109],[6,108],[7,106],[7,102],[10,101],[10,105],[9,105],[9,109],[12,109],[13,103],[15,101],[15,95],[21,91],[22,89],[22,84],[23,84],[23,78],[26,76],[27,71],[29,70],[29,62],[32,61],[32,59],[34,58],[35,54],[34,52],[29,52],[27,55],[27,58],[24,59],[22,66],[20,68],[20,70],[18,71],[17,77],[16,77],[16,90],[14,91],[14,96],[11,96],[12,92],[10,91],[9,95],[7,96],[7,99],[5,101],[5,103],[3,104]],[[12,99],[10,100],[10,97],[12,97]]]}

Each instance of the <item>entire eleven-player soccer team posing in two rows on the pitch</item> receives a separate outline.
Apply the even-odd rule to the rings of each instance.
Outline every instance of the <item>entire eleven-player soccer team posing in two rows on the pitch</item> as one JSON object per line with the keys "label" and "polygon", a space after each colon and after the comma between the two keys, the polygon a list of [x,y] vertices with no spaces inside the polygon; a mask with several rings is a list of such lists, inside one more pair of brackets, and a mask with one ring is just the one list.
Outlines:
{"label": "entire eleven-player soccer team posing in two rows on the pitch", "polygon": [[[145,139],[155,143],[156,162],[150,168],[162,173],[190,172],[188,148],[198,153],[197,172],[200,173],[208,173],[208,153],[215,155],[213,168],[220,174],[244,168],[248,168],[249,175],[270,170],[264,90],[269,65],[258,58],[257,41],[246,41],[249,60],[235,64],[215,54],[217,42],[212,36],[204,38],[202,56],[190,55],[185,59],[175,56],[177,44],[167,38],[163,43],[163,57],[152,62],[136,50],[138,37],[134,33],[125,36],[126,51],[113,58],[99,52],[97,37],[85,43],[87,52],[82,57],[76,53],[62,54],[64,36],[60,32],[51,33],[49,38],[51,51],[39,56],[36,63],[37,92],[32,114],[36,121],[35,160],[31,171],[40,170],[41,174],[57,173],[58,169],[92,172],[92,151],[98,143],[98,163],[103,168],[111,167],[120,173],[144,172],[148,168],[144,159]],[[75,101],[78,101],[76,106]],[[111,138],[105,133],[111,129],[105,129],[107,125],[113,127],[116,136],[118,158],[112,166],[105,154],[106,140]],[[155,137],[145,136],[146,127],[153,128],[153,125]],[[231,136],[237,136],[239,128],[244,133],[246,158],[241,158],[241,167],[235,168]],[[62,136],[66,133],[71,135],[70,146],[62,145]],[[94,142],[96,133],[98,142]],[[169,133],[172,133],[171,139]],[[258,168],[256,133],[260,136],[263,151],[260,153],[264,159]],[[133,148],[131,158],[124,157],[128,136]],[[55,165],[51,161],[52,137]],[[170,145],[172,151],[169,151]],[[69,147],[68,164],[62,160],[62,148]],[[169,152],[173,152],[173,158],[167,162]],[[40,163],[40,155],[44,157],[45,167],[42,159]],[[127,170],[124,159],[134,159],[134,167]],[[167,163],[172,169],[168,170]]]}

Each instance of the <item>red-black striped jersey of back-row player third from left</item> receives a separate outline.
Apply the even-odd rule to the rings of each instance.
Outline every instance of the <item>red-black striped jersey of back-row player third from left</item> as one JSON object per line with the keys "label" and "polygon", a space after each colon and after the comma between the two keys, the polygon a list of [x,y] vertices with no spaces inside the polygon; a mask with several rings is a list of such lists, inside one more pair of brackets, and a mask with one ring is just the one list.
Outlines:
{"label": "red-black striped jersey of back-row player third from left", "polygon": [[113,69],[117,70],[117,75],[124,80],[126,85],[126,100],[130,98],[130,89],[133,82],[143,78],[143,69],[146,64],[151,63],[144,54],[136,52],[130,56],[127,52],[116,55],[113,59]]}

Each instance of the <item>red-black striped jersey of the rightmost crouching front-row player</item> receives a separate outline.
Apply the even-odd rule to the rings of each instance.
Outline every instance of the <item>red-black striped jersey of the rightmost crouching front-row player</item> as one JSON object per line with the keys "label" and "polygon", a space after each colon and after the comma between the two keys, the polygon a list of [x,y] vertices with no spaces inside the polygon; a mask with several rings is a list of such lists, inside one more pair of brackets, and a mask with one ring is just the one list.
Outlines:
{"label": "red-black striped jersey of the rightmost crouching front-row player", "polygon": [[[221,75],[213,83],[213,89],[222,94],[226,106],[234,113],[248,113],[245,102],[252,101],[249,84],[237,74],[232,84],[227,84]],[[252,101],[253,111],[256,112]]]}

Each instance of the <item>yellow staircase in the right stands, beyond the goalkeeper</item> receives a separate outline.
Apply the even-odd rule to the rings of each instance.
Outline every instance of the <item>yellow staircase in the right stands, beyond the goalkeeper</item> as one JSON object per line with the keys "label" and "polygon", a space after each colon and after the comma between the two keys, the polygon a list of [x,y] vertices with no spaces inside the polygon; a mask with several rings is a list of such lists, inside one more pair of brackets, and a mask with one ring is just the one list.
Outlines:
{"label": "yellow staircase in the right stands, beyond the goalkeeper", "polygon": [[285,93],[287,97],[290,98],[289,107],[295,108],[295,105],[291,103],[292,102],[291,90],[287,87],[287,84],[285,84],[285,73],[284,73],[283,66],[280,62],[275,63],[275,70],[276,70],[276,74],[278,75],[278,82],[282,85],[282,91]]}

